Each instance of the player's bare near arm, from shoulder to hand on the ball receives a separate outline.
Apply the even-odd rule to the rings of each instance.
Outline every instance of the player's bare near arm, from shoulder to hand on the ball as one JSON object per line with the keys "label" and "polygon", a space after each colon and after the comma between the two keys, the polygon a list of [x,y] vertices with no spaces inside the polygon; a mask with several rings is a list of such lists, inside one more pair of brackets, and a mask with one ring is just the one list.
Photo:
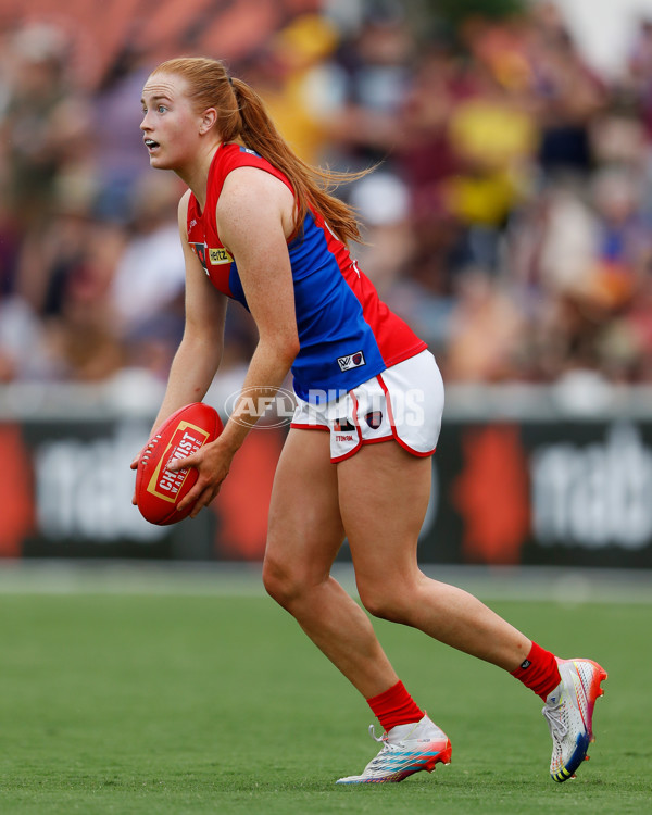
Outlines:
{"label": "player's bare near arm, from shoulder to hand on the ball", "polygon": [[200,472],[196,486],[180,504],[184,507],[196,502],[192,517],[217,494],[235,453],[258,421],[258,412],[252,414],[248,405],[258,404],[259,398],[278,389],[299,352],[287,248],[292,208],[293,198],[287,187],[253,167],[234,171],[220,198],[220,236],[238,265],[259,342],[242,386],[248,399],[240,398],[236,403],[216,441],[174,466],[196,466]]}

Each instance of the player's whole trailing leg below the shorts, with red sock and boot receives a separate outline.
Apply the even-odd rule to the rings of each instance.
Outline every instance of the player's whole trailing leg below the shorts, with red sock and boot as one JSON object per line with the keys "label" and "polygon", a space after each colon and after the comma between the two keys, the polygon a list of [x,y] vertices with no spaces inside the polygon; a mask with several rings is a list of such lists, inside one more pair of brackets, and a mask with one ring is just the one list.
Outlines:
{"label": "player's whole trailing leg below the shorts, with red sock and boot", "polygon": [[[430,466],[393,442],[363,448],[338,465],[340,513],[362,602],[376,616],[505,668],[538,693],[553,740],[550,772],[564,781],[593,740],[593,705],[606,672],[590,660],[557,660],[473,595],[421,572],[416,547]],[[360,484],[364,490],[355,489]]]}

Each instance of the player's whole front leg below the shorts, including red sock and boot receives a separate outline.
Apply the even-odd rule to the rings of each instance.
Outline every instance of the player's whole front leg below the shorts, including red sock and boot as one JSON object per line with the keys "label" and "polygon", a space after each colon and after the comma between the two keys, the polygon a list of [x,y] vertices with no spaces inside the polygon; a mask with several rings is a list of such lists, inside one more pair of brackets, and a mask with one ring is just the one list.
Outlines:
{"label": "player's whole front leg below the shorts, including red sock and boot", "polygon": [[393,727],[394,740],[384,741],[363,774],[339,782],[400,781],[449,762],[451,745],[399,681],[365,612],[329,574],[343,539],[329,443],[327,432],[290,430],[274,481],[263,579],[373,710],[380,705],[398,723],[417,719],[416,727]]}

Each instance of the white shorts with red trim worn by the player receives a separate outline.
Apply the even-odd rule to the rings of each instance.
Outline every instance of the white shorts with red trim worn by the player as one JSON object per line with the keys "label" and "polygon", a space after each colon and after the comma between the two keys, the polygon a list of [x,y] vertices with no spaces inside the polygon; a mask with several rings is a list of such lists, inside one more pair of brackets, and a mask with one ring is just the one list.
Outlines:
{"label": "white shorts with red trim worn by the player", "polygon": [[330,461],[363,444],[394,439],[413,455],[432,455],[441,429],[443,381],[429,351],[392,365],[324,404],[297,397],[290,427],[330,432]]}

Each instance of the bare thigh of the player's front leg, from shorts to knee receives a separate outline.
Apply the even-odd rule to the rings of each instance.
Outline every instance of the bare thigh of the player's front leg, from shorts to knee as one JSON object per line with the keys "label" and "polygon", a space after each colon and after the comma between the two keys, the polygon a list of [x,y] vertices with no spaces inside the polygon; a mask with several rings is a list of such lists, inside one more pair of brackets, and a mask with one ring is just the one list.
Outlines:
{"label": "bare thigh of the player's front leg, from shorts to knee", "polygon": [[343,536],[329,434],[292,428],[272,489],[266,564],[322,579]]}

